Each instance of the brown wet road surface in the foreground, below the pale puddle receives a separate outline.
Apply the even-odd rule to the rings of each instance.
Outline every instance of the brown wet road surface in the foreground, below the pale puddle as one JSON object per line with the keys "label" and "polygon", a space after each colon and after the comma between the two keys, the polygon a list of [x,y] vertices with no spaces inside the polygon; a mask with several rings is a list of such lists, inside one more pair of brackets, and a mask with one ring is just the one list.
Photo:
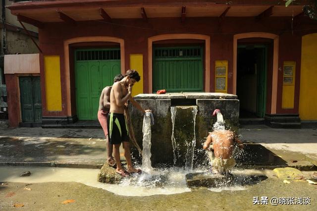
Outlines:
{"label": "brown wet road surface in the foreground, below the pale puddle", "polygon": [[[261,200],[262,197],[267,197],[267,201]],[[309,198],[310,204],[304,205],[303,201],[302,204],[285,205],[282,204],[283,200],[276,206],[272,205],[275,204],[274,201],[271,203],[272,198],[287,197]],[[254,198],[259,200],[259,204],[254,205]],[[14,208],[14,205],[23,205],[27,210],[45,211],[315,211],[317,187],[307,182],[286,184],[279,179],[266,179],[245,190],[215,192],[208,188],[197,188],[180,194],[126,197],[76,182],[8,182],[0,186],[0,199],[3,210],[11,210],[9,208]],[[68,201],[71,203],[63,204],[66,200],[71,200]],[[305,200],[305,203],[308,201]]]}

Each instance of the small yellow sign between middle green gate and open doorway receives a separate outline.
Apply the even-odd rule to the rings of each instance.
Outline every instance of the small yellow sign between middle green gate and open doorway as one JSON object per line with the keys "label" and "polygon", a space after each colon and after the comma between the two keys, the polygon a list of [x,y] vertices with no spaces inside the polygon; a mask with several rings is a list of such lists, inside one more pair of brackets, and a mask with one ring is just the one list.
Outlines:
{"label": "small yellow sign between middle green gate and open doorway", "polygon": [[214,90],[227,93],[228,85],[228,60],[215,61]]}

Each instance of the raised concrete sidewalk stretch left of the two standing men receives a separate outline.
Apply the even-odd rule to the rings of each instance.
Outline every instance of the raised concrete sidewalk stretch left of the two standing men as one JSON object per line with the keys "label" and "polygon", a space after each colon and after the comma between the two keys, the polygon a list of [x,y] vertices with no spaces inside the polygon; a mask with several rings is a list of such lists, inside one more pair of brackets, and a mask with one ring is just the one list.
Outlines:
{"label": "raised concrete sidewalk stretch left of the two standing men", "polygon": [[101,168],[104,136],[102,129],[0,129],[0,165]]}

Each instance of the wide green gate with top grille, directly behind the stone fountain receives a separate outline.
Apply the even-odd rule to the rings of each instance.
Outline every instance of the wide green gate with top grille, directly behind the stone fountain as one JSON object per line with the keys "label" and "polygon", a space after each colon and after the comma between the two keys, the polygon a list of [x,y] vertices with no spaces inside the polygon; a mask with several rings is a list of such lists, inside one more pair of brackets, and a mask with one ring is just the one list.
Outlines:
{"label": "wide green gate with top grille, directly behind the stone fountain", "polygon": [[202,48],[155,48],[153,92],[160,89],[165,89],[167,92],[202,92]]}

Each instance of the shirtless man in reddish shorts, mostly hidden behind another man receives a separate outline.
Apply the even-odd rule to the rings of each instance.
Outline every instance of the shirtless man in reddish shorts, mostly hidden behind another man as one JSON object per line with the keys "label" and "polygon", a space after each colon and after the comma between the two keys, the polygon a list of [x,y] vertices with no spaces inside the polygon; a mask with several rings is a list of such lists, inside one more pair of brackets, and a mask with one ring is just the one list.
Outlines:
{"label": "shirtless man in reddish shorts, mostly hidden behind another man", "polygon": [[[114,83],[121,81],[123,75],[116,75],[113,79]],[[107,129],[107,117],[110,110],[110,91],[112,86],[105,87],[101,92],[99,99],[99,109],[98,109],[98,120],[104,130],[106,136],[106,150],[107,150],[107,161],[110,166],[115,165],[114,158],[112,157],[113,145],[109,143],[108,140],[108,129]]]}

